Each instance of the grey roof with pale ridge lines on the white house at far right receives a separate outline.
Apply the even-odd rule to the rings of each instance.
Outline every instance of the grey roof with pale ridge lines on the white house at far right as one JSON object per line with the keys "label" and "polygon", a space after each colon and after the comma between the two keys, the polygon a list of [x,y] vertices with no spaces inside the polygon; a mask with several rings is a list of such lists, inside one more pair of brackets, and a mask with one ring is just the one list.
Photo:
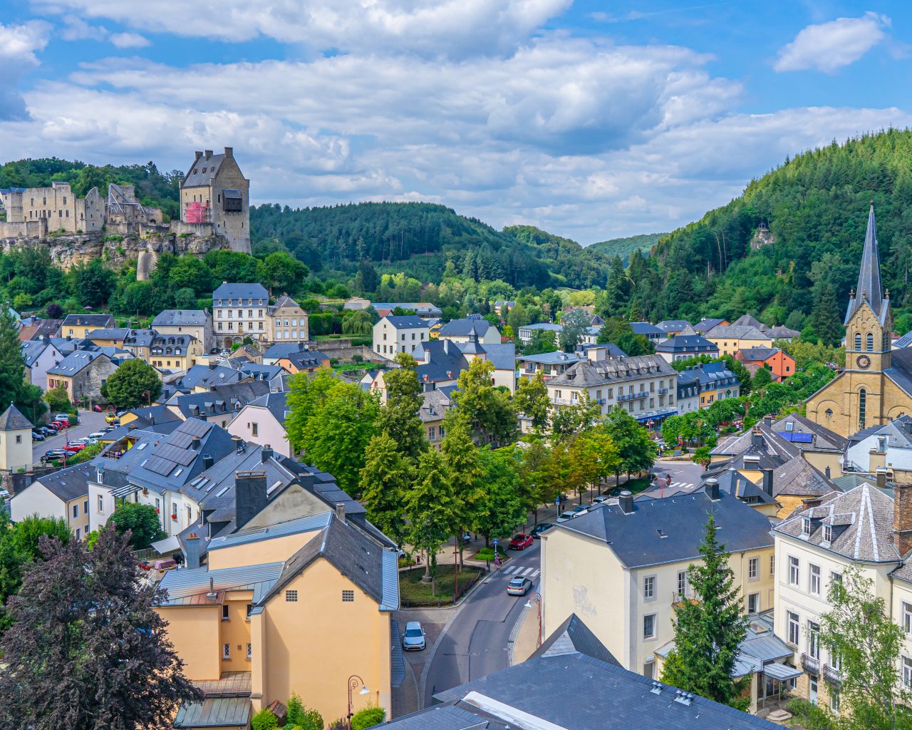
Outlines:
{"label": "grey roof with pale ridge lines on the white house at far right", "polygon": [[[811,518],[808,537],[802,537],[805,517]],[[824,525],[832,529],[828,546],[822,544]],[[901,557],[893,543],[893,498],[867,484],[824,495],[819,506],[799,507],[772,529],[851,560],[884,563]]]}

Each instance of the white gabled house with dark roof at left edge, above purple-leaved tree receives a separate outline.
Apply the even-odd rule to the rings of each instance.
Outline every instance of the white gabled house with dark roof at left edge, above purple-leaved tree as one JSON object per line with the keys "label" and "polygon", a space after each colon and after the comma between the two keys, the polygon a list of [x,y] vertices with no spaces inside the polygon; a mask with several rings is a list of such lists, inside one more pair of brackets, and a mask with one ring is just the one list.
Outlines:
{"label": "white gabled house with dark roof at left edge, above purple-leaved tree", "polygon": [[88,464],[67,466],[51,474],[39,476],[10,500],[10,518],[21,522],[37,515],[62,519],[73,535],[81,539],[88,535],[88,481],[95,470]]}

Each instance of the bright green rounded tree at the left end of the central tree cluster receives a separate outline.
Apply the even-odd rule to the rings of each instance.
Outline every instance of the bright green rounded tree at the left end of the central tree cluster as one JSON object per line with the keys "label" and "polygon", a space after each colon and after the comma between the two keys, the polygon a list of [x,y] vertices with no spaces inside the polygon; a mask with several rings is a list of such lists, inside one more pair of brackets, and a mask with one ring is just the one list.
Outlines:
{"label": "bright green rounded tree at the left end of the central tree cluster", "polygon": [[316,406],[301,434],[305,459],[358,494],[365,449],[377,433],[378,399],[353,383],[338,382]]}

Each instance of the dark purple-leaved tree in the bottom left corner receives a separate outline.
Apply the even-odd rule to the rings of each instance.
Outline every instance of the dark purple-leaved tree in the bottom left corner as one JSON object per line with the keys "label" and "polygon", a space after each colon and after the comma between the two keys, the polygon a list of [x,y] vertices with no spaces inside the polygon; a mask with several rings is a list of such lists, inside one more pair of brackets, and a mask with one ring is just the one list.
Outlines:
{"label": "dark purple-leaved tree in the bottom left corner", "polygon": [[0,725],[164,728],[175,705],[202,701],[153,608],[163,591],[140,582],[126,537],[108,527],[91,550],[48,537],[40,550],[9,600]]}

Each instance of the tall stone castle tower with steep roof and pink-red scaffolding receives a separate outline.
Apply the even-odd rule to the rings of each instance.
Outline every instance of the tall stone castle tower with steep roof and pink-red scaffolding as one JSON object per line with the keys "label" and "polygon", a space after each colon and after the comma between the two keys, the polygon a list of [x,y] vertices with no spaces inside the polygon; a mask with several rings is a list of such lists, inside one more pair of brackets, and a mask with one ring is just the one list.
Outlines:
{"label": "tall stone castle tower with steep roof and pink-red scaffolding", "polygon": [[232,147],[223,154],[196,151],[181,181],[181,224],[181,229],[208,224],[212,233],[228,239],[233,251],[250,253],[250,181]]}

